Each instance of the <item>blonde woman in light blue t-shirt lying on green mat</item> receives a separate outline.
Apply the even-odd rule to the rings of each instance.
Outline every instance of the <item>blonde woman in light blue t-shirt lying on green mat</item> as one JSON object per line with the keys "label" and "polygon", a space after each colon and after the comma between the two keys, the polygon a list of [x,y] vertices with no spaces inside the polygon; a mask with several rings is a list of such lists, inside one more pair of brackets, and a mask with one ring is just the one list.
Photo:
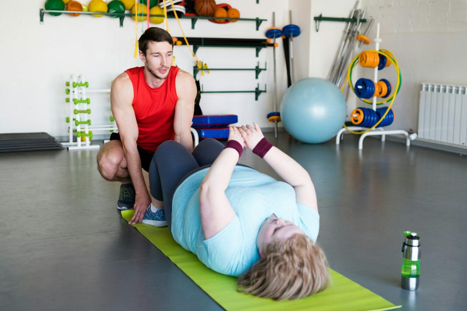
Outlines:
{"label": "blonde woman in light blue t-shirt lying on green mat", "polygon": [[[164,142],[149,169],[151,194],[163,199],[175,241],[212,270],[239,276],[240,291],[276,300],[309,296],[329,282],[325,254],[314,244],[315,189],[305,169],[254,125],[231,126],[225,148],[211,138],[193,153]],[[244,146],[285,182],[237,164]],[[143,222],[152,214],[148,207]]]}

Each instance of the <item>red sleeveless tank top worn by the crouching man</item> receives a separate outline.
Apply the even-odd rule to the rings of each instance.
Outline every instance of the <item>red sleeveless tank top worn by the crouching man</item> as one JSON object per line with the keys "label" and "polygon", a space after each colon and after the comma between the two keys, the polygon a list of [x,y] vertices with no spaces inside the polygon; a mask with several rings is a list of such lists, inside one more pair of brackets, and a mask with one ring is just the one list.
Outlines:
{"label": "red sleeveless tank top worn by the crouching man", "polygon": [[174,140],[174,116],[177,103],[175,78],[178,67],[172,66],[169,76],[156,89],[144,79],[144,67],[134,67],[125,72],[133,84],[133,110],[138,124],[136,145],[155,152],[166,140]]}

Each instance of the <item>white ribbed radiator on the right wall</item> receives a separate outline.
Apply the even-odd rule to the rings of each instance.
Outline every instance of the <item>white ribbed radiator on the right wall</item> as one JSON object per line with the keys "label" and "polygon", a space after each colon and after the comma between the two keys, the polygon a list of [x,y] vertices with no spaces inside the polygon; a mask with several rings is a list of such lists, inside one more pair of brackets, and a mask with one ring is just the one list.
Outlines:
{"label": "white ribbed radiator on the right wall", "polygon": [[467,145],[467,86],[422,83],[418,137],[444,144]]}

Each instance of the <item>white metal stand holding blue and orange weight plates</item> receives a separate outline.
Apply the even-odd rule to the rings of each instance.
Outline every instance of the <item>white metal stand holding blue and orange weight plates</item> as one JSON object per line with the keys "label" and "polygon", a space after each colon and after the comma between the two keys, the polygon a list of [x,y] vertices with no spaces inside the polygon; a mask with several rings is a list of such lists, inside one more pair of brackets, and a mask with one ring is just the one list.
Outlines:
{"label": "white metal stand holding blue and orange weight plates", "polygon": [[[381,43],[382,39],[379,37],[379,30],[380,30],[380,24],[376,24],[376,38],[374,39],[375,41],[375,50],[379,51],[379,44]],[[350,77],[349,77],[350,79]],[[375,67],[375,76],[373,78],[373,81],[375,83],[378,83],[378,66]],[[397,90],[395,90],[396,92]],[[377,97],[373,97],[373,105],[372,109],[376,111],[376,101]],[[347,126],[347,128],[351,131],[365,131],[367,128],[365,127],[360,127],[360,126]],[[340,144],[340,140],[344,140],[344,134],[350,133],[347,131],[347,129],[344,127],[340,129],[340,131],[336,135],[336,145]],[[402,134],[405,136],[405,145],[410,146],[410,141],[414,140],[417,138],[417,133],[409,134],[407,131],[404,130],[389,130],[385,131],[382,127],[376,127],[371,131],[368,131],[366,133],[363,133],[360,135],[360,139],[358,140],[358,149],[361,150],[363,149],[363,139],[367,136],[375,136],[375,135],[381,135],[381,141],[386,140],[386,135],[397,135],[397,134]]]}

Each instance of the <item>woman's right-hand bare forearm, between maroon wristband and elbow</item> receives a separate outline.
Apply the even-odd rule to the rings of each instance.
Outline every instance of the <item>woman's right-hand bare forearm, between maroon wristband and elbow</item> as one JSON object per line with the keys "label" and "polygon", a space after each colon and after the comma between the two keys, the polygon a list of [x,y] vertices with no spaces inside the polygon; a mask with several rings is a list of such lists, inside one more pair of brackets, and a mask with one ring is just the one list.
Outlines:
{"label": "woman's right-hand bare forearm, between maroon wristband and elbow", "polygon": [[304,185],[311,180],[300,164],[276,147],[272,147],[263,159],[292,187]]}

